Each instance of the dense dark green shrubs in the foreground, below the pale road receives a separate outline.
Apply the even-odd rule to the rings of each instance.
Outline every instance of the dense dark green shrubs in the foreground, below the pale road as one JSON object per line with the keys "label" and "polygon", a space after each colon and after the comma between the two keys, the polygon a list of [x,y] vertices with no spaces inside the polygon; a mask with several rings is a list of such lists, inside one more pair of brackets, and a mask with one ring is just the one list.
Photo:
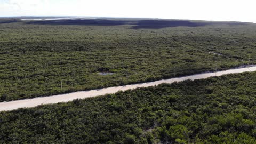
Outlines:
{"label": "dense dark green shrubs in the foreground, below the pale road", "polygon": [[255,143],[256,73],[0,113],[1,143]]}

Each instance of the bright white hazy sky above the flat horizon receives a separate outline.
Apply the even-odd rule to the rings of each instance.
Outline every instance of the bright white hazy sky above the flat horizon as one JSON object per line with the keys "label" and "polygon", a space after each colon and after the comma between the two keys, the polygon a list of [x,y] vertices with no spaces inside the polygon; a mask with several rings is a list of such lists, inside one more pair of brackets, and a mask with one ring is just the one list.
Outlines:
{"label": "bright white hazy sky above the flat horizon", "polygon": [[255,0],[0,0],[0,17],[127,17],[256,23],[255,6]]}

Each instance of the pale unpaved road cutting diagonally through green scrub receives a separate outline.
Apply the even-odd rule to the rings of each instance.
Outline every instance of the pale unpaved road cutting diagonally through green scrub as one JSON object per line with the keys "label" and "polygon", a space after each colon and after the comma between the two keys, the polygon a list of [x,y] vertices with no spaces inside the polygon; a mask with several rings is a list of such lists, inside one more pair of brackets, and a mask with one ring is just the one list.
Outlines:
{"label": "pale unpaved road cutting diagonally through green scrub", "polygon": [[14,110],[14,109],[18,109],[18,108],[36,107],[38,105],[44,105],[44,104],[50,104],[50,103],[68,102],[68,101],[72,101],[74,99],[84,99],[84,98],[89,98],[89,97],[96,97],[99,95],[116,93],[118,91],[135,89],[137,87],[155,86],[155,85],[162,84],[162,83],[180,82],[180,81],[185,81],[187,79],[191,79],[191,80],[202,79],[202,78],[208,78],[208,77],[212,77],[212,76],[243,73],[246,71],[249,71],[249,72],[256,71],[256,66],[246,67],[246,68],[229,69],[229,70],[225,70],[225,71],[218,71],[216,73],[204,73],[204,74],[197,74],[197,75],[191,75],[191,76],[163,79],[160,81],[148,82],[148,83],[131,84],[131,85],[125,85],[125,86],[114,86],[114,87],[108,87],[108,88],[90,90],[90,91],[78,91],[78,92],[67,93],[67,94],[52,95],[49,97],[38,97],[38,98],[33,98],[33,99],[24,99],[24,100],[10,101],[10,102],[0,102],[0,111]]}

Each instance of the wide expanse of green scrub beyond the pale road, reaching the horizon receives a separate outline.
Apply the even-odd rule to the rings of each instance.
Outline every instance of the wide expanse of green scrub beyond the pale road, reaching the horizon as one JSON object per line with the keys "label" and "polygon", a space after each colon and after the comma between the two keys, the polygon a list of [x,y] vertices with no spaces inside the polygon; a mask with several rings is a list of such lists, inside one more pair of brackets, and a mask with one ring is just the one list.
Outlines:
{"label": "wide expanse of green scrub beyond the pale road, reaching the horizon", "polygon": [[[65,20],[0,24],[0,101],[256,63],[252,23]],[[218,52],[217,55],[209,52]],[[115,75],[101,76],[100,72]],[[62,89],[61,89],[62,83]]]}

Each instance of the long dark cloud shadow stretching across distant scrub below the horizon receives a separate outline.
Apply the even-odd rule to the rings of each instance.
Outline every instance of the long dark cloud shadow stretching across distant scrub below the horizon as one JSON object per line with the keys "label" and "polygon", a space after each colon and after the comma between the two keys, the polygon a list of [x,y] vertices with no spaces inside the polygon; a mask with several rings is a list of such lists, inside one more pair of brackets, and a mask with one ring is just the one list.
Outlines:
{"label": "long dark cloud shadow stretching across distant scrub below the horizon", "polygon": [[133,29],[160,29],[166,27],[198,27],[206,25],[247,25],[244,22],[194,22],[188,20],[39,20],[29,21],[26,24],[37,25],[85,25],[85,26],[118,26],[134,25]]}

